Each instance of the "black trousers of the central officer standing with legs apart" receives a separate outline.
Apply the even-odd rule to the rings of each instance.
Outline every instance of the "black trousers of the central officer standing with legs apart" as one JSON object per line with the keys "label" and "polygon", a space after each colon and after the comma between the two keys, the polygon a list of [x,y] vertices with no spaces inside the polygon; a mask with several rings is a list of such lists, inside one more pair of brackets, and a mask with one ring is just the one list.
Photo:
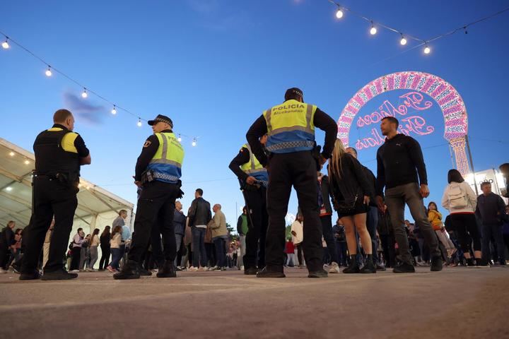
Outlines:
{"label": "black trousers of the central officer standing with legs apart", "polygon": [[285,216],[292,186],[297,191],[299,207],[304,217],[303,250],[308,270],[322,270],[322,222],[318,208],[317,166],[310,151],[274,154],[269,160],[269,227],[265,242],[267,270],[283,270]]}

